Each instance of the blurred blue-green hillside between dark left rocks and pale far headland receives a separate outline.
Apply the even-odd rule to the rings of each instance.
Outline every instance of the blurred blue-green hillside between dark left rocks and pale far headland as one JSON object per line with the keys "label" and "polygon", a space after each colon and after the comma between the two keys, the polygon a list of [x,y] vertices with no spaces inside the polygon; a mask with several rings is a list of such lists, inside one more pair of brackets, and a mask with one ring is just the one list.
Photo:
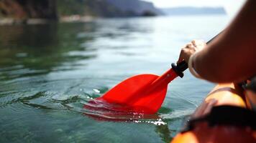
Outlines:
{"label": "blurred blue-green hillside between dark left rocks and pale far headland", "polygon": [[99,17],[158,15],[160,10],[147,1],[140,0],[57,0],[58,14]]}

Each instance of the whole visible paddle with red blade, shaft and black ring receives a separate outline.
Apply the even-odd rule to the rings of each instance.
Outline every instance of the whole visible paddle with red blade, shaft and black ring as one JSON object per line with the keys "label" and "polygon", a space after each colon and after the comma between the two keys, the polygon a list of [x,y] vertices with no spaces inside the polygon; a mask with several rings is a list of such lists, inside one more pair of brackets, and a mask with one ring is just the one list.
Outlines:
{"label": "whole visible paddle with red blade, shaft and black ring", "polygon": [[172,69],[161,76],[140,74],[130,77],[117,84],[102,97],[88,102],[84,108],[104,111],[104,113],[114,111],[119,114],[124,112],[155,114],[163,104],[168,84],[176,77],[182,78],[183,71],[186,69],[188,69],[188,64],[182,61],[177,65],[172,64]]}

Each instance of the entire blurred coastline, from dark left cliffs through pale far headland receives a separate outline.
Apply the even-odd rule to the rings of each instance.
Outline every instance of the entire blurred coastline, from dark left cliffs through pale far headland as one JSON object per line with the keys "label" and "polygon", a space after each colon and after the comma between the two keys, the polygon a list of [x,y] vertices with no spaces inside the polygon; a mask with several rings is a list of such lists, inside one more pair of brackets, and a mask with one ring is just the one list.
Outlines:
{"label": "entire blurred coastline, from dark left cliffs through pale far headland", "polygon": [[0,24],[90,21],[100,17],[227,14],[223,6],[157,8],[140,0],[1,0]]}

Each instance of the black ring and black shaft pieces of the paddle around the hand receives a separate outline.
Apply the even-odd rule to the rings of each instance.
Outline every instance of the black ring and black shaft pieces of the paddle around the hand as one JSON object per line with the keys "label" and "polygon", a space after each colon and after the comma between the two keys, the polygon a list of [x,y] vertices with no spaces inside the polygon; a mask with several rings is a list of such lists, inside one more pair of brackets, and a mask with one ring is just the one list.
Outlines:
{"label": "black ring and black shaft pieces of the paddle around the hand", "polygon": [[[222,33],[222,32],[221,32]],[[221,34],[219,33],[219,34]],[[219,36],[219,34],[217,34],[216,36]],[[212,40],[214,40],[216,38],[216,36],[214,36],[214,38],[212,38],[211,40],[207,41],[206,44],[209,44]],[[184,74],[183,74],[183,71],[185,71],[186,69],[188,69],[188,63],[186,61],[181,61],[180,63],[178,64],[175,64],[173,63],[172,64],[172,68],[173,68],[173,71],[175,71],[175,73],[183,78],[184,77]]]}

